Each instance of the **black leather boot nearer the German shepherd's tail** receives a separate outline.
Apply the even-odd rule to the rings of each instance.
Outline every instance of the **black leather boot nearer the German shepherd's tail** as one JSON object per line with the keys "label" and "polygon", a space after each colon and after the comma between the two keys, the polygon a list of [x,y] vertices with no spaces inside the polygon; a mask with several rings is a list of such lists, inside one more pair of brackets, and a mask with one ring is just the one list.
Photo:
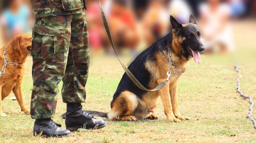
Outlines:
{"label": "black leather boot nearer the German shepherd's tail", "polygon": [[100,129],[107,125],[104,120],[94,119],[91,114],[84,112],[80,103],[67,104],[65,124],[66,129],[70,131],[79,128]]}

